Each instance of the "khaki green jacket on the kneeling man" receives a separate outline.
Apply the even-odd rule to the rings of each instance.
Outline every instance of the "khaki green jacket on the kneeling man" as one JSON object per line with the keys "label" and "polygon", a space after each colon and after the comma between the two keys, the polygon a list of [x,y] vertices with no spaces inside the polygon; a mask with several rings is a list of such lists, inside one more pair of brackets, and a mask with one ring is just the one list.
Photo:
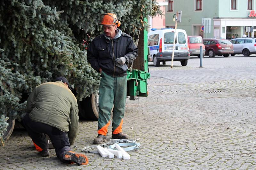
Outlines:
{"label": "khaki green jacket on the kneeling man", "polygon": [[79,128],[76,97],[61,81],[43,83],[34,89],[27,103],[32,121],[48,124],[68,132],[73,145]]}

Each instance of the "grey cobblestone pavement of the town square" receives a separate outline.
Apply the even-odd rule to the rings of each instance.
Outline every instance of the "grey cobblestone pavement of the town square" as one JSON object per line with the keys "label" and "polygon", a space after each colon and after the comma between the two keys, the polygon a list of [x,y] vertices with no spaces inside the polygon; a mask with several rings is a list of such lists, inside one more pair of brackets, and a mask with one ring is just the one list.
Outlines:
{"label": "grey cobblestone pavement of the town square", "polygon": [[[87,166],[66,165],[54,150],[40,157],[16,128],[0,148],[0,169],[256,169],[256,56],[166,64],[150,63],[148,97],[127,100],[123,131],[141,144],[131,159],[86,153]],[[97,122],[81,120],[76,145],[92,145],[96,131]]]}

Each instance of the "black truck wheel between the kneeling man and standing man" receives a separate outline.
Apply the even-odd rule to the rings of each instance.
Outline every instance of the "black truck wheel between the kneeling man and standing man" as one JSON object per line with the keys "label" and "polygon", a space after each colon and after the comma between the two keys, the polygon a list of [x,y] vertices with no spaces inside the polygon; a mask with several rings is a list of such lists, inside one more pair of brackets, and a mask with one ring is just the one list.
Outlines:
{"label": "black truck wheel between the kneeling man and standing man", "polygon": [[98,93],[93,93],[82,101],[78,101],[79,117],[97,121],[99,118],[98,99]]}

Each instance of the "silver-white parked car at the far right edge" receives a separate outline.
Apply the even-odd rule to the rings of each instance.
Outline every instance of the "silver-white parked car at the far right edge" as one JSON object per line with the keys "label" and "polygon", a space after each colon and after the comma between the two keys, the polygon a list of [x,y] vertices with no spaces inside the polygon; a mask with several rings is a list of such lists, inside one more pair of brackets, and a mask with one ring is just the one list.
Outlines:
{"label": "silver-white parked car at the far right edge", "polygon": [[250,56],[250,54],[256,54],[256,39],[254,38],[237,38],[231,39],[230,42],[233,44],[234,53],[243,54],[244,56]]}

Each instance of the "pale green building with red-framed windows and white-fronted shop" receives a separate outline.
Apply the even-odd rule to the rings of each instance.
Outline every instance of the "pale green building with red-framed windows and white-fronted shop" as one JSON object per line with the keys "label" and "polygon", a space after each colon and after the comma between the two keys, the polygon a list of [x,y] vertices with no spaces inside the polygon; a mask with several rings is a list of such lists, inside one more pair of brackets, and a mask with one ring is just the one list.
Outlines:
{"label": "pale green building with red-framed windows and white-fronted shop", "polygon": [[[166,27],[173,27],[176,11],[182,11],[179,29],[203,38],[256,37],[256,0],[167,0]],[[202,18],[211,18],[210,33],[202,31]]]}

